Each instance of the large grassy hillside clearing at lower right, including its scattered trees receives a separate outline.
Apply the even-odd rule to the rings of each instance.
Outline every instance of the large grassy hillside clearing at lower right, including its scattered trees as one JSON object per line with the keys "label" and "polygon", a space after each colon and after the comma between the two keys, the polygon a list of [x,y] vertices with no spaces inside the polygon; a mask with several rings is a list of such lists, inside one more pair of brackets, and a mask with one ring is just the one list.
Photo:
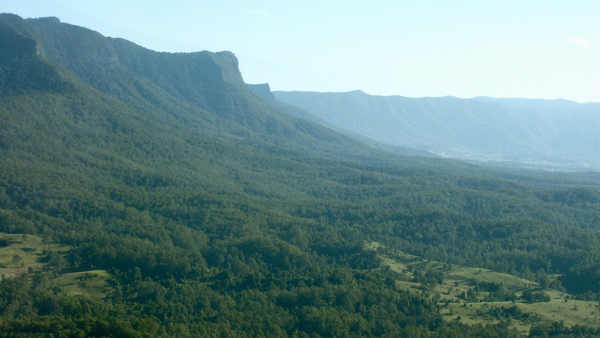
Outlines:
{"label": "large grassy hillside clearing at lower right, including its scattered trees", "polygon": [[553,289],[560,287],[556,276],[535,283],[488,269],[422,259],[380,243],[367,248],[377,251],[382,269],[397,274],[398,288],[433,295],[448,322],[500,324],[523,334],[553,326],[600,327],[598,302],[573,300],[564,290]]}

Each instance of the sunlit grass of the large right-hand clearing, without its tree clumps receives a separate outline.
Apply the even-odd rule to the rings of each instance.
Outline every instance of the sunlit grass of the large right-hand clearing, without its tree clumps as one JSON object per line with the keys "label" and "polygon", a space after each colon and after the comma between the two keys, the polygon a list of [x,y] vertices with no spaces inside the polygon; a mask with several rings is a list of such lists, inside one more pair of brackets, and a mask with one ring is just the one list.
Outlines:
{"label": "sunlit grass of the large right-hand clearing, without its tree clumps", "polygon": [[[508,321],[510,325],[522,333],[529,333],[534,324],[562,321],[566,326],[587,325],[600,327],[600,304],[592,301],[575,301],[572,295],[556,290],[542,290],[538,283],[515,277],[509,274],[490,271],[469,266],[448,265],[442,262],[422,259],[406,253],[386,253],[379,243],[365,245],[365,248],[377,250],[382,259],[382,266],[398,273],[397,286],[410,292],[430,292],[439,299],[440,313],[446,321],[460,320],[466,324],[497,324]],[[378,250],[379,249],[379,250]],[[443,273],[442,284],[415,283],[416,271],[421,274],[429,269]],[[556,276],[554,276],[556,277]],[[502,284],[510,292],[514,292],[517,300],[484,302],[488,292],[480,291],[477,298],[480,301],[467,301],[463,292],[475,290],[476,283]],[[524,290],[544,292],[550,297],[549,302],[526,303],[518,300]],[[473,292],[473,291],[472,291]],[[560,298],[557,298],[560,297]]]}

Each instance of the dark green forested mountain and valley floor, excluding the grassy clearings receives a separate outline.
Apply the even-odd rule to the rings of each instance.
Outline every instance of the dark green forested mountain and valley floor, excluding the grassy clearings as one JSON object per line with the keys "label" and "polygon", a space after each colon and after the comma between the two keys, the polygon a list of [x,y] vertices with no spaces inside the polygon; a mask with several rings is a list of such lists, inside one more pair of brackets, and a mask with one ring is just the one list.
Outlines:
{"label": "dark green forested mountain and valley floor, excluding the grassy clearings", "polygon": [[[367,241],[600,294],[596,173],[374,150],[256,96],[227,52],[161,54],[11,14],[0,38],[0,232],[68,248],[5,276],[2,333],[517,335],[444,322]],[[104,298],[55,282],[98,270]]]}

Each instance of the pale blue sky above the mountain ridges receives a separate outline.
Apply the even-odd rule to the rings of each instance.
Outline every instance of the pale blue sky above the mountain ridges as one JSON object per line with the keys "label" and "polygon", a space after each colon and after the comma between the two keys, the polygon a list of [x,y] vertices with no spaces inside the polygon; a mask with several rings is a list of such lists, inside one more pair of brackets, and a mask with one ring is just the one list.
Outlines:
{"label": "pale blue sky above the mountain ridges", "polygon": [[0,0],[160,52],[231,51],[271,90],[600,102],[598,0]]}

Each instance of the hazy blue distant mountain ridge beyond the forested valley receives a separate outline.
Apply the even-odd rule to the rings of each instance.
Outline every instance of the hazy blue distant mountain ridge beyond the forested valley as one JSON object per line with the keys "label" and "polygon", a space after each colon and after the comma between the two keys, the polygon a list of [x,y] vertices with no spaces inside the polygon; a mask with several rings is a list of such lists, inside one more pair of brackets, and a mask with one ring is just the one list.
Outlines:
{"label": "hazy blue distant mountain ridge beyond the forested valley", "polygon": [[600,170],[600,103],[274,91],[337,128],[395,146],[487,162]]}

